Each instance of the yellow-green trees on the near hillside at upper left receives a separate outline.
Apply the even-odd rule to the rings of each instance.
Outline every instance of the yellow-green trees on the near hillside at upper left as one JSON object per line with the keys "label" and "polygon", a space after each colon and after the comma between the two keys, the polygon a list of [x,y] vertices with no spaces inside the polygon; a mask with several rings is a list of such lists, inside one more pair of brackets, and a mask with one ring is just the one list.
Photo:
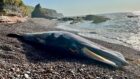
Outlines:
{"label": "yellow-green trees on the near hillside at upper left", "polygon": [[28,8],[22,0],[1,0],[0,15],[20,15],[27,16]]}

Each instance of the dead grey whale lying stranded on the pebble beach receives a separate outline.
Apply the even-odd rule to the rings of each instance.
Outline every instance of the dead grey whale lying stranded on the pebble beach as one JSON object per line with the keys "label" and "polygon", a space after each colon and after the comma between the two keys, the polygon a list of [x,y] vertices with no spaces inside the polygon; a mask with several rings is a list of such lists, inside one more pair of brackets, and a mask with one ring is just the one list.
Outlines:
{"label": "dead grey whale lying stranded on the pebble beach", "polygon": [[21,35],[8,34],[7,36],[18,38],[34,47],[51,51],[55,55],[86,57],[113,67],[123,67],[128,64],[121,53],[70,32],[48,31]]}

